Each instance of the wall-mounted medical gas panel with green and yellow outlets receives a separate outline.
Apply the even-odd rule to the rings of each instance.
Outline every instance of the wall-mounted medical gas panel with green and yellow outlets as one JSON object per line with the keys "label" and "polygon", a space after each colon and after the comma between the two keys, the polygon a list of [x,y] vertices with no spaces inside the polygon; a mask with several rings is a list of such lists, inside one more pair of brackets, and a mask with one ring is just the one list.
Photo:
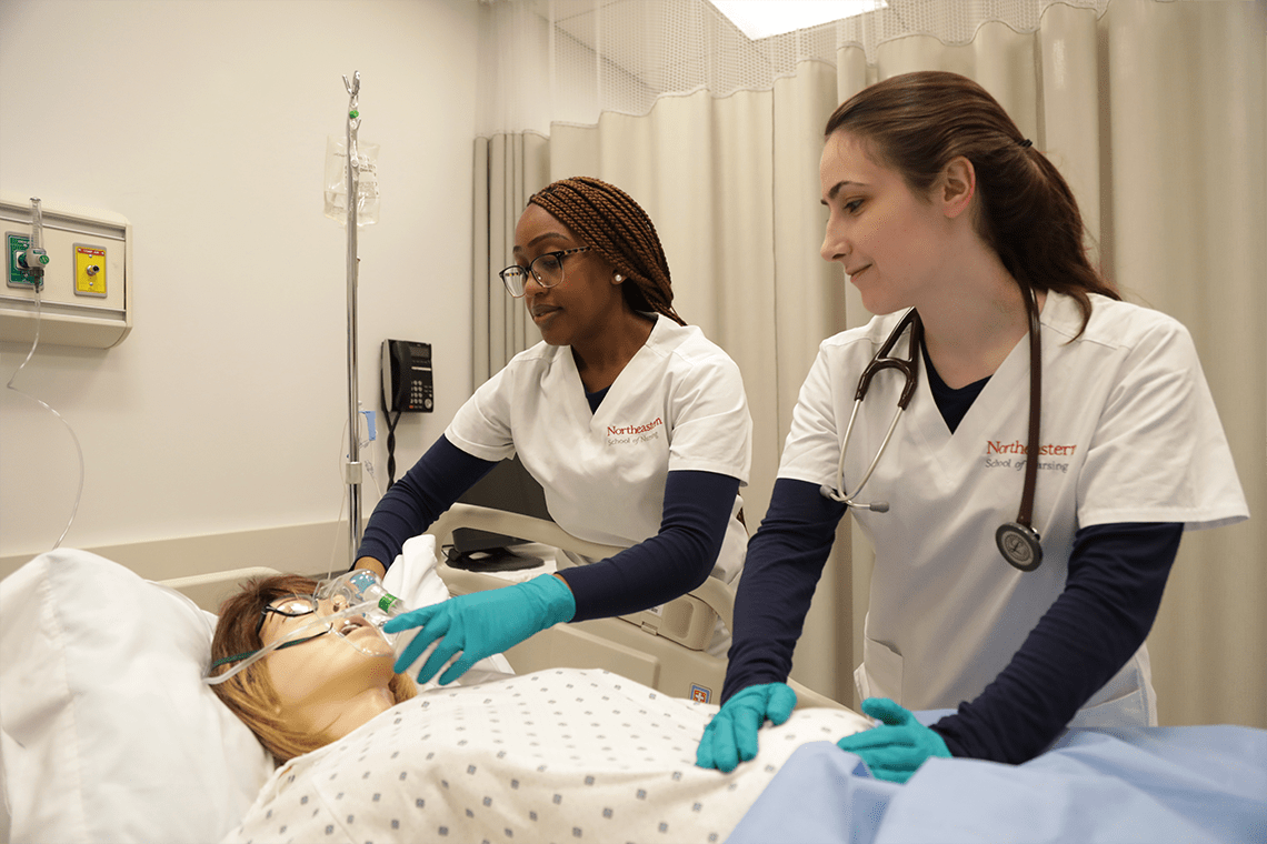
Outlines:
{"label": "wall-mounted medical gas panel with green and yellow outlets", "polygon": [[0,339],[105,349],[132,330],[132,225],[100,211],[0,191]]}

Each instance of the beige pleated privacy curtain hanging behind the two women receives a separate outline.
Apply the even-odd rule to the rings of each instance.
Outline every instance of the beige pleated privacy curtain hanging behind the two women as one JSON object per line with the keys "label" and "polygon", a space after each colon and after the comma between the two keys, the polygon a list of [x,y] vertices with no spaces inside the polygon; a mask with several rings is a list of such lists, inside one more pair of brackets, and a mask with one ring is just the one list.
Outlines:
{"label": "beige pleated privacy curtain hanging behind the two women", "polygon": [[[660,95],[642,114],[556,121],[547,143],[533,142],[532,167],[506,152],[527,135],[480,140],[478,151],[489,151],[487,192],[504,200],[504,216],[490,214],[490,242],[508,254],[509,240],[499,238],[513,237],[509,197],[526,199],[527,190],[522,178],[503,189],[498,168],[531,171],[532,186],[598,176],[647,209],[678,311],[744,372],[755,425],[744,497],[755,525],[818,342],[868,318],[839,267],[818,258],[822,124],[878,78],[931,68],[976,78],[1071,181],[1106,275],[1129,300],[1175,315],[1196,338],[1259,518],[1185,538],[1150,638],[1161,717],[1267,728],[1267,339],[1254,330],[1267,323],[1263,5],[1057,3],[1029,30],[986,20],[962,43],[888,30],[874,43],[839,40],[829,58],[796,62],[763,90],[717,96],[698,87]],[[540,156],[547,163],[538,170]],[[479,301],[488,285],[476,277],[475,286]],[[504,305],[504,294],[493,294],[488,313]],[[488,325],[516,321],[506,314]],[[503,329],[492,334],[495,368],[514,345]],[[514,338],[536,339],[531,326]],[[793,669],[845,702],[854,700],[870,559],[849,526],[841,525]]]}

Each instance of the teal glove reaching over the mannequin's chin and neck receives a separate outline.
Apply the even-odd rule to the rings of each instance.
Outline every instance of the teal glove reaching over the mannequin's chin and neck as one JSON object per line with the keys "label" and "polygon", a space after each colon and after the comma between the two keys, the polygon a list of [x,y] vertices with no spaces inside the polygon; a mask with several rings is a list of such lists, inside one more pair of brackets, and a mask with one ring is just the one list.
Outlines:
{"label": "teal glove reaching over the mannequin's chin and neck", "polygon": [[576,600],[568,585],[554,574],[542,574],[526,583],[459,595],[405,612],[383,625],[383,630],[400,633],[422,628],[397,657],[398,673],[408,669],[432,642],[441,640],[418,671],[419,683],[435,677],[461,652],[462,655],[440,676],[440,685],[446,686],[480,659],[502,653],[560,621],[570,621],[574,615]]}

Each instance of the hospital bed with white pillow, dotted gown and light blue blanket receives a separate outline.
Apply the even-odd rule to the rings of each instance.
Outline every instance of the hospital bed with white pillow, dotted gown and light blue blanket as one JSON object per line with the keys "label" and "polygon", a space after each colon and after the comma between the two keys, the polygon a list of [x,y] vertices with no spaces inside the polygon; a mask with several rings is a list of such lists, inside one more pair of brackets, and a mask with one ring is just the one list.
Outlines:
{"label": "hospital bed with white pillow, dotted gown and light blue blanket", "polygon": [[[603,554],[556,525],[465,505],[432,529],[436,547],[459,525]],[[666,614],[560,625],[508,657],[517,672],[551,663],[579,672],[535,671],[504,681],[498,693],[471,686],[419,696],[397,707],[404,716],[413,705],[416,720],[366,731],[376,720],[353,734],[356,742],[274,771],[250,731],[201,683],[214,624],[209,610],[243,577],[270,571],[160,585],[94,554],[57,550],[0,581],[0,844],[536,840],[509,826],[461,826],[514,800],[536,801],[523,811],[541,822],[551,811],[564,812],[575,830],[559,836],[566,840],[582,833],[580,840],[736,844],[1267,841],[1267,733],[1248,728],[1074,730],[1025,766],[935,759],[895,786],[870,779],[855,757],[834,745],[865,721],[801,688],[806,701],[831,705],[798,709],[787,725],[764,729],[761,755],[735,773],[701,771],[691,764],[694,742],[716,701],[702,702],[693,690],[716,692],[720,666],[653,630]],[[506,582],[446,566],[438,572],[454,593]],[[687,604],[692,614],[717,612],[729,621],[730,600],[727,588],[706,585]],[[627,682],[627,674],[599,666],[639,678]],[[544,716],[533,730],[541,735],[497,736],[492,725],[514,717],[516,701],[533,695],[532,711]],[[625,719],[618,729],[609,729],[608,710]],[[644,733],[653,724],[673,733],[673,748],[666,759],[637,768],[635,752],[655,738]],[[430,750],[405,753],[413,766],[405,769],[395,755],[397,731],[407,728],[426,731]],[[479,747],[481,736],[499,744]],[[513,759],[538,743],[563,757],[530,777],[497,778],[507,752]],[[568,749],[573,744],[580,749]],[[568,767],[569,753],[608,748],[620,769]],[[424,763],[424,755],[436,759]],[[627,764],[635,769],[623,769]],[[427,772],[428,782],[418,782]],[[626,795],[604,792],[604,783],[641,785]],[[423,811],[418,802],[426,811],[451,812],[446,833],[421,826],[412,814]],[[636,819],[630,805],[639,809]],[[379,824],[375,834],[361,835],[366,822]],[[618,834],[604,834],[604,824]],[[660,834],[658,825],[677,834]]]}

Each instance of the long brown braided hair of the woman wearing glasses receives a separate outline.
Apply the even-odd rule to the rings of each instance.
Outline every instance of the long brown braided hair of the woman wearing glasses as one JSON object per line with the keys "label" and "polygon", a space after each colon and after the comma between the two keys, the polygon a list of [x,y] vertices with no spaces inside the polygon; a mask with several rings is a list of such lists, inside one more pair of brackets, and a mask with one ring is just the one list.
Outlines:
{"label": "long brown braided hair of the woman wearing glasses", "polygon": [[547,185],[528,204],[549,211],[625,276],[621,291],[630,307],[687,324],[673,310],[669,261],[655,225],[628,194],[598,178],[573,176]]}

